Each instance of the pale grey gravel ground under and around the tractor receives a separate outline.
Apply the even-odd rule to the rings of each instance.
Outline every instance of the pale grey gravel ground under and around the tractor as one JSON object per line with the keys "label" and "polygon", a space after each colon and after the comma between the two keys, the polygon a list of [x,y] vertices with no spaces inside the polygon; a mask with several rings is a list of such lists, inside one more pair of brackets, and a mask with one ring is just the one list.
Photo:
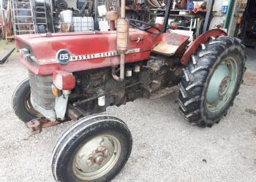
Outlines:
{"label": "pale grey gravel ground under and around the tractor", "polygon": [[[54,181],[51,152],[72,122],[29,135],[11,106],[12,92],[26,76],[18,52],[0,65],[0,181]],[[247,71],[227,116],[205,129],[184,122],[177,92],[108,108],[127,122],[134,141],[127,165],[113,181],[256,181],[255,90],[256,72]]]}

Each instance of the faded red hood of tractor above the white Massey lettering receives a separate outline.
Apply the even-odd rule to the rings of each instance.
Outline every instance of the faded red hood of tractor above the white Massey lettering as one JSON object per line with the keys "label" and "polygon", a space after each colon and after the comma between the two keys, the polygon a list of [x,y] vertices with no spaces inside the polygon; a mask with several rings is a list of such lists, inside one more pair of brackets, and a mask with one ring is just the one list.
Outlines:
{"label": "faded red hood of tractor above the white Massey lettering", "polygon": [[[116,52],[116,31],[53,33],[50,36],[47,34],[27,34],[16,36],[15,40],[19,50],[23,48],[29,49],[29,52],[34,55],[39,65],[59,63],[59,60],[56,60],[56,54],[59,50],[67,50],[71,57],[91,55],[90,58],[93,58],[92,56],[95,54]],[[130,29],[129,50],[150,51],[152,45],[153,41],[149,33]],[[80,60],[83,59],[80,58]]]}

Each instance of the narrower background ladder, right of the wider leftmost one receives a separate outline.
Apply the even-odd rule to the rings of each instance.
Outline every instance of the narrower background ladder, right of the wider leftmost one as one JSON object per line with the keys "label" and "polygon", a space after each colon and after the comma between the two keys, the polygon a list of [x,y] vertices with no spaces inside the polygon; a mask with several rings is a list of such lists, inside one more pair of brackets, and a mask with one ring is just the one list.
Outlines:
{"label": "narrower background ladder, right of the wider leftmost one", "polygon": [[45,1],[34,2],[34,17],[35,17],[35,24],[37,25],[37,27],[39,25],[44,25],[46,31],[49,31],[48,20],[47,20],[47,6]]}

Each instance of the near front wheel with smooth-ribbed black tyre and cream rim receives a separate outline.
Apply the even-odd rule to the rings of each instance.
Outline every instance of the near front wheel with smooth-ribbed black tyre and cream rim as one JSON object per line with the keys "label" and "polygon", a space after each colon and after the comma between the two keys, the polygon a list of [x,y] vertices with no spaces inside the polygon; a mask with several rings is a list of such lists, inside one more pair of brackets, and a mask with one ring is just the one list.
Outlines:
{"label": "near front wheel with smooth-ribbed black tyre and cream rim", "polygon": [[132,151],[132,135],[121,119],[96,114],[80,119],[53,149],[56,181],[110,181]]}

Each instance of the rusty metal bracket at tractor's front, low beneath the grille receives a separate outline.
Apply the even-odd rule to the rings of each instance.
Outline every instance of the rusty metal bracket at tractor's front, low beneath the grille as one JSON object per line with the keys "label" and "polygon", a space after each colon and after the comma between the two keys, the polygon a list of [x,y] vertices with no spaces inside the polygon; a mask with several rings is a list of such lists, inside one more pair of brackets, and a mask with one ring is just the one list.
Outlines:
{"label": "rusty metal bracket at tractor's front, low beneath the grille", "polygon": [[29,128],[29,132],[31,135],[35,135],[39,132],[42,132],[42,128],[52,127],[57,124],[59,124],[58,121],[52,122],[48,119],[38,118],[38,119],[31,120],[30,122],[27,122],[26,127]]}

